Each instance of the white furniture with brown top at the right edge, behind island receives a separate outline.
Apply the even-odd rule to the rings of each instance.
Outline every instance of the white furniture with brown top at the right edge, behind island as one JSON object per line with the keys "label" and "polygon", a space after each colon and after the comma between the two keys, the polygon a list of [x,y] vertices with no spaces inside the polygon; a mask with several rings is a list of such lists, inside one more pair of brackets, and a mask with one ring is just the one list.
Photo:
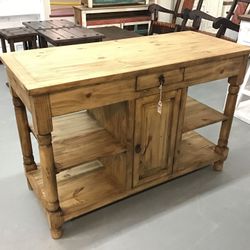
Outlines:
{"label": "white furniture with brown top at the right edge, behind island", "polygon": [[[242,15],[238,43],[250,46],[250,15]],[[243,84],[238,95],[235,117],[250,124],[250,66],[248,66]]]}

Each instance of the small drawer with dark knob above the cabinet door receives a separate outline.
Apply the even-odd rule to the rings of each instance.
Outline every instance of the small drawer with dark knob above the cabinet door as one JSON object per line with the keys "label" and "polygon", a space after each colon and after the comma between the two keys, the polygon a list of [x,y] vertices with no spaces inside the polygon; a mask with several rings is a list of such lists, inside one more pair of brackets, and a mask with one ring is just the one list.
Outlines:
{"label": "small drawer with dark knob above the cabinet door", "polygon": [[184,69],[175,69],[165,72],[159,72],[149,75],[142,75],[137,77],[136,90],[143,90],[149,88],[159,87],[159,77],[163,75],[165,78],[165,85],[171,83],[178,83],[183,81]]}

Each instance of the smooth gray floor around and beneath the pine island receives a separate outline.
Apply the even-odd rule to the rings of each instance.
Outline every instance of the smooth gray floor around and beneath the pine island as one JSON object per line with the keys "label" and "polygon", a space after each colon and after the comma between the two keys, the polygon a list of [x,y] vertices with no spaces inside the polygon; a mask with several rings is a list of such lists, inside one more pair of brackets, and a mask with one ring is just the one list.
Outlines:
{"label": "smooth gray floor around and beneath the pine island", "polygon": [[[23,175],[6,76],[0,66],[0,249],[248,250],[250,126],[235,119],[222,173],[204,168],[65,224],[61,240],[48,225]],[[223,106],[226,82],[190,94]],[[201,130],[211,140],[218,126]]]}

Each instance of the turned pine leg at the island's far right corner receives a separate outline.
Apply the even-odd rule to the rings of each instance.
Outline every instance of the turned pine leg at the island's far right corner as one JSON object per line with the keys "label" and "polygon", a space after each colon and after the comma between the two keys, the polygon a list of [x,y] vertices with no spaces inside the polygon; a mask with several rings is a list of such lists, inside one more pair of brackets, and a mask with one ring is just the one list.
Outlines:
{"label": "turned pine leg at the island's far right corner", "polygon": [[215,147],[215,152],[222,156],[222,159],[215,162],[213,165],[213,169],[216,171],[221,171],[223,169],[223,163],[227,158],[228,155],[228,138],[232,126],[233,115],[235,110],[235,105],[237,101],[237,95],[240,89],[240,86],[237,82],[236,77],[229,78],[229,88],[228,94],[226,99],[226,104],[224,108],[224,115],[228,117],[226,121],[222,122],[220,136],[217,146]]}

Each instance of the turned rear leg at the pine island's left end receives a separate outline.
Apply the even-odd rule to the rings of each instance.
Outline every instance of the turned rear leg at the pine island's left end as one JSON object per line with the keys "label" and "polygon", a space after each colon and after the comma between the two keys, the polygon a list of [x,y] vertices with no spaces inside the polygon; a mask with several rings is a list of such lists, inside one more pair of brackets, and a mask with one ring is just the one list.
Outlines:
{"label": "turned rear leg at the pine island's left end", "polygon": [[[37,166],[34,161],[33,151],[32,151],[32,144],[30,138],[30,129],[28,124],[28,118],[25,106],[21,99],[16,95],[16,93],[11,90],[12,97],[13,97],[13,104],[15,107],[15,115],[17,121],[17,128],[19,133],[19,139],[22,148],[23,154],[23,165],[25,169],[25,173],[29,171],[37,169]],[[27,179],[28,187],[32,190],[31,185]]]}

